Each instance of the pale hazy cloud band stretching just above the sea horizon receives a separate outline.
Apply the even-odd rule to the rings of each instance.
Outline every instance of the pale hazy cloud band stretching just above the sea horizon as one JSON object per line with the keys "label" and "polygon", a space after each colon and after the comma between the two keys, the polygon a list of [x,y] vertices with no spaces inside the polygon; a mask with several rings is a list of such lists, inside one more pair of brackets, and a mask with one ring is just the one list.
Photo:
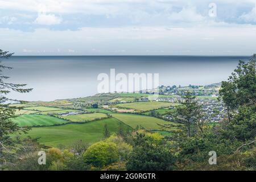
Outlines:
{"label": "pale hazy cloud band stretching just above the sea horizon", "polygon": [[[245,25],[204,28],[85,27],[77,31],[36,29],[34,32],[0,28],[0,40],[2,49],[16,52],[16,55],[59,55],[58,48],[67,50],[61,51],[63,55],[143,55],[147,50],[156,55],[252,55],[255,53],[255,32],[254,26]],[[26,46],[27,50],[44,48],[45,52],[23,52],[20,45]],[[154,50],[160,51],[152,52]],[[184,50],[190,52],[184,53]]]}

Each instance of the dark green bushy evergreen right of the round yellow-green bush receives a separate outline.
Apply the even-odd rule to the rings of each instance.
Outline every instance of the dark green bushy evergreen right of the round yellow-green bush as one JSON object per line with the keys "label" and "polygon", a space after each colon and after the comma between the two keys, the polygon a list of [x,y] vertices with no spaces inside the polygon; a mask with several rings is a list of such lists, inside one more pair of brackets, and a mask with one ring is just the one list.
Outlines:
{"label": "dark green bushy evergreen right of the round yellow-green bush", "polygon": [[175,169],[175,160],[167,141],[162,136],[157,133],[137,133],[126,167],[130,171],[172,170]]}

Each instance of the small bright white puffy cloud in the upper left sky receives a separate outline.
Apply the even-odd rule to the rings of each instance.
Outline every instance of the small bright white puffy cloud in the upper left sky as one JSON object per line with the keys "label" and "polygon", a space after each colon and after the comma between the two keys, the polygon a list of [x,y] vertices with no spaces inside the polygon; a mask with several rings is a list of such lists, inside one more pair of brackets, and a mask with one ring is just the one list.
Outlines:
{"label": "small bright white puffy cloud in the upper left sky", "polygon": [[46,14],[46,13],[39,13],[38,18],[35,19],[36,24],[43,24],[43,25],[53,25],[53,24],[60,24],[61,18],[55,16],[54,14]]}

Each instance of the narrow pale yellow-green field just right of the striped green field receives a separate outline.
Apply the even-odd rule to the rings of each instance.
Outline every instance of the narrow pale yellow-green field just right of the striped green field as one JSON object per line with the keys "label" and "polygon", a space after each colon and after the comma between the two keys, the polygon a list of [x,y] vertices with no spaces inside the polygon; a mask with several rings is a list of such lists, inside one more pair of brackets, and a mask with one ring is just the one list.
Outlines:
{"label": "narrow pale yellow-green field just right of the striped green field", "polygon": [[106,118],[107,115],[104,113],[89,113],[89,114],[77,114],[77,115],[67,115],[62,118],[68,119],[73,122],[82,122],[82,121],[92,121],[97,118]]}

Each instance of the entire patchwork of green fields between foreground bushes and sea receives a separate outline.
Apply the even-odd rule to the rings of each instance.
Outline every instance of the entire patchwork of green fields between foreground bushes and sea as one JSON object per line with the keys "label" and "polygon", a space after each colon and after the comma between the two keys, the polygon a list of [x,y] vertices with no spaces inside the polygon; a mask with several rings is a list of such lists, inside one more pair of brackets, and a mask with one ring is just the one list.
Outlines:
{"label": "entire patchwork of green fields between foreground bushes and sea", "polygon": [[[139,94],[138,96],[141,97],[142,95]],[[170,102],[134,102],[134,94],[132,97],[129,95],[127,95],[126,97],[115,96],[115,98],[89,97],[81,98],[79,100],[92,103],[101,102],[101,109],[84,109],[84,111],[89,111],[93,113],[74,114],[57,118],[51,116],[51,114],[58,115],[59,113],[68,112],[81,113],[83,110],[77,110],[78,107],[75,104],[70,105],[69,102],[64,101],[58,101],[56,104],[67,104],[67,107],[72,106],[76,109],[61,109],[53,105],[28,105],[24,107],[24,109],[16,110],[15,114],[18,116],[15,117],[13,121],[18,123],[19,126],[32,126],[32,129],[28,131],[27,134],[22,134],[22,137],[30,136],[32,138],[39,138],[40,143],[51,147],[57,147],[59,145],[68,146],[71,145],[73,142],[76,142],[77,140],[84,140],[88,143],[94,143],[98,140],[103,139],[105,124],[108,126],[110,133],[117,132],[120,125],[123,126],[124,130],[132,130],[135,129],[137,126],[142,126],[148,130],[158,131],[160,129],[160,126],[158,124],[164,125],[170,122],[164,121],[163,119],[150,117],[147,114],[150,114],[150,110],[155,110],[159,112],[159,114],[164,115],[167,111],[170,111],[168,107],[177,105]],[[130,103],[106,105],[104,101],[125,101]],[[52,104],[54,104],[54,102],[52,102]],[[115,111],[112,110],[104,109],[104,104],[108,106],[106,107],[107,109],[115,108],[115,111],[119,113],[115,113]],[[61,107],[63,108],[63,106]],[[135,113],[122,113],[133,111],[141,111],[144,112],[143,114],[145,115],[138,115]],[[112,115],[113,118],[108,118],[108,114]],[[69,123],[69,121],[77,123]],[[93,122],[81,123],[86,121]]]}

